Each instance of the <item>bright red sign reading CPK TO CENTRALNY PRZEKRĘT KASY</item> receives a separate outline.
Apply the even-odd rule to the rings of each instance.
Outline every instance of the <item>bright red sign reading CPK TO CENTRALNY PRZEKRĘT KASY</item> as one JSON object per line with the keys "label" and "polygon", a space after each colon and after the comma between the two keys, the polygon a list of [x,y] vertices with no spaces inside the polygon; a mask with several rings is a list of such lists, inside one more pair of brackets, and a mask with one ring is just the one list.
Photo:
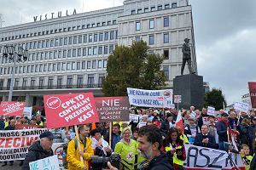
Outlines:
{"label": "bright red sign reading CPK TO CENTRALNY PRZEKR\u0118T KASY", "polygon": [[92,93],[44,95],[47,127],[99,122]]}

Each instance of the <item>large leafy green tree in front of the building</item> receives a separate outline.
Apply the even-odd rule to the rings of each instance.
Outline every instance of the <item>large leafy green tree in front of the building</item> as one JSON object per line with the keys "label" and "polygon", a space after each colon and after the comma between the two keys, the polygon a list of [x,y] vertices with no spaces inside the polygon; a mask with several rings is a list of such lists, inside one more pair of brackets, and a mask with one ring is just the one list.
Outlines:
{"label": "large leafy green tree in front of the building", "polygon": [[148,54],[146,42],[132,42],[130,47],[118,46],[108,57],[107,77],[102,91],[105,96],[127,95],[126,88],[158,89],[166,77],[160,71],[163,57]]}

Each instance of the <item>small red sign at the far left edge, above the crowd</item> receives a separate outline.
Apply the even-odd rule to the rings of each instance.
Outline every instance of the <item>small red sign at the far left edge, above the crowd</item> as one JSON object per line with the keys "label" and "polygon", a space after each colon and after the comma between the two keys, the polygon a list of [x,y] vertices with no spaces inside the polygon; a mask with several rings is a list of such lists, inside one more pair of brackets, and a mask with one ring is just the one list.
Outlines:
{"label": "small red sign at the far left edge, above the crowd", "polygon": [[23,116],[25,105],[25,102],[2,101],[0,116]]}

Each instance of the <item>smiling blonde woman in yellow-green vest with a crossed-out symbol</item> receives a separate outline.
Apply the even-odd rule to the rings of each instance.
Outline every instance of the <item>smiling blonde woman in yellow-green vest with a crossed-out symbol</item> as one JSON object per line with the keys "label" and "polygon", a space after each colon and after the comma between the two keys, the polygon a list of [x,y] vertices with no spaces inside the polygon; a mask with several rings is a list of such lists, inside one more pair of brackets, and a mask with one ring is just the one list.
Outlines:
{"label": "smiling blonde woman in yellow-green vest with a crossed-out symbol", "polygon": [[121,133],[122,139],[114,148],[114,153],[119,154],[125,164],[124,170],[134,169],[134,164],[137,163],[135,160],[138,155],[137,142],[131,139],[131,134],[131,128],[125,127]]}

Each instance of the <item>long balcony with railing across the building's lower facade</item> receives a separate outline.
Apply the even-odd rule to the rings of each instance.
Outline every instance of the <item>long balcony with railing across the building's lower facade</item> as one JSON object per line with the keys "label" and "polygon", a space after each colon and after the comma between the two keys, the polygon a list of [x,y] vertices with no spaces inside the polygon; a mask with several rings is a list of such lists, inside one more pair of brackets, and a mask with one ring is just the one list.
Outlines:
{"label": "long balcony with railing across the building's lower facade", "polygon": [[[73,84],[56,86],[26,86],[14,87],[14,90],[37,90],[37,89],[70,89],[70,88],[102,88],[102,84]],[[9,90],[9,87],[0,87],[0,90]]]}

